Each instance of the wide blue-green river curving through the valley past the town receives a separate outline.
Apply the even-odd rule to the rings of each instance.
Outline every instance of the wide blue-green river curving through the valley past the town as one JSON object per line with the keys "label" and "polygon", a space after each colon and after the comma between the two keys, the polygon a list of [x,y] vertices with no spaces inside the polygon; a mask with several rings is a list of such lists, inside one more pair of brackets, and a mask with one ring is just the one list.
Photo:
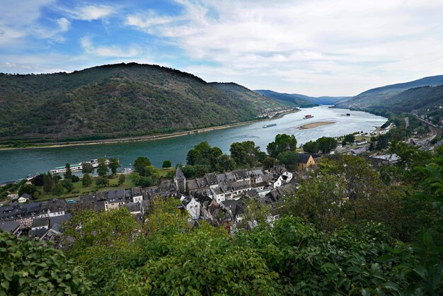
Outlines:
{"label": "wide blue-green river curving through the valley past the town", "polygon": [[[351,115],[347,116],[346,113]],[[313,115],[313,118],[304,120],[306,114]],[[299,127],[306,123],[322,121],[334,123],[309,130],[299,130]],[[211,146],[219,147],[223,152],[229,153],[231,143],[250,140],[260,146],[262,151],[266,151],[267,143],[272,142],[277,134],[295,135],[298,144],[303,144],[323,136],[338,137],[357,131],[371,132],[385,122],[386,118],[369,113],[319,106],[301,109],[298,113],[290,113],[275,120],[163,140],[0,150],[0,183],[25,178],[29,174],[46,172],[56,166],[64,166],[67,162],[76,164],[105,157],[117,158],[122,167],[128,167],[138,156],[147,156],[152,164],[158,167],[161,167],[163,160],[166,159],[173,165],[178,162],[185,164],[188,151],[202,141],[207,141]],[[272,123],[276,125],[262,127]]]}

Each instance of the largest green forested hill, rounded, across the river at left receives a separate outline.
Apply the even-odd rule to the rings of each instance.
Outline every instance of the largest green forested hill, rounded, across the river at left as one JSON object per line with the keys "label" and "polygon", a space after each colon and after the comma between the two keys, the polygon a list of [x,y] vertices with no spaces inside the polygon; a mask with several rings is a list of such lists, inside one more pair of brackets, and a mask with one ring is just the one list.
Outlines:
{"label": "largest green forested hill, rounded, across the river at left", "polygon": [[259,108],[192,74],[146,64],[0,74],[0,140],[92,140],[251,120]]}

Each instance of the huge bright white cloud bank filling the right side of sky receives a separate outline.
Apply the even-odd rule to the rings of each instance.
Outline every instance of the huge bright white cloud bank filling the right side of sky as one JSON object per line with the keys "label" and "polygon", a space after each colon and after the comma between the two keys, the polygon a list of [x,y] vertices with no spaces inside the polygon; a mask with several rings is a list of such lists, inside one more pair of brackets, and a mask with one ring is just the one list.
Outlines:
{"label": "huge bright white cloud bank filling the right side of sky", "polygon": [[179,16],[148,11],[127,16],[126,24],[213,62],[186,69],[206,80],[352,95],[442,74],[442,1],[177,2]]}

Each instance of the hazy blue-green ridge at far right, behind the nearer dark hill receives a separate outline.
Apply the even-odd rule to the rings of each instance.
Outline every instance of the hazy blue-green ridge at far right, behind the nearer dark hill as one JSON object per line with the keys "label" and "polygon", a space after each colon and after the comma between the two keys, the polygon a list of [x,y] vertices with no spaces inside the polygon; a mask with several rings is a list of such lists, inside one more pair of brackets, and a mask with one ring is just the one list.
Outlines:
{"label": "hazy blue-green ridge at far right, behind the nearer dark hill", "polygon": [[335,106],[338,108],[371,108],[372,106],[382,106],[402,91],[422,86],[439,86],[442,84],[443,75],[425,77],[402,84],[392,84],[377,87],[376,89],[369,89],[369,91],[364,91],[350,100],[337,103]]}

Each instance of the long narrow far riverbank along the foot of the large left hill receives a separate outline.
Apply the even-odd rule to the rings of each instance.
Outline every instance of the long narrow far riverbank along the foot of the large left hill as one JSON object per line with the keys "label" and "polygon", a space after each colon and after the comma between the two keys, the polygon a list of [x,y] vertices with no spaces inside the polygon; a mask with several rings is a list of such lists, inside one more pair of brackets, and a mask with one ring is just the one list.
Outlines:
{"label": "long narrow far riverbank along the foot of the large left hill", "polygon": [[127,138],[117,138],[117,139],[107,139],[107,140],[92,140],[92,141],[79,141],[79,142],[54,142],[54,143],[35,143],[35,146],[30,147],[0,147],[1,150],[18,150],[18,149],[38,149],[38,148],[59,148],[59,147],[74,147],[74,146],[84,146],[84,145],[96,145],[96,144],[114,144],[114,143],[124,143],[124,142],[141,142],[141,141],[151,141],[151,140],[161,140],[161,139],[168,139],[171,137],[181,137],[185,135],[193,135],[193,134],[199,134],[201,132],[211,132],[213,130],[223,130],[225,128],[229,127],[238,127],[241,125],[248,125],[251,123],[258,123],[260,121],[267,121],[267,120],[275,120],[277,118],[282,118],[284,115],[290,114],[290,113],[297,113],[298,110],[289,110],[287,112],[281,113],[277,115],[274,118],[264,118],[264,119],[258,119],[258,120],[249,120],[245,121],[243,123],[231,123],[229,125],[219,125],[216,127],[205,127],[200,128],[196,130],[189,130],[185,132],[173,132],[171,134],[163,134],[163,135],[152,135],[152,136],[142,136],[142,137],[127,137]]}

